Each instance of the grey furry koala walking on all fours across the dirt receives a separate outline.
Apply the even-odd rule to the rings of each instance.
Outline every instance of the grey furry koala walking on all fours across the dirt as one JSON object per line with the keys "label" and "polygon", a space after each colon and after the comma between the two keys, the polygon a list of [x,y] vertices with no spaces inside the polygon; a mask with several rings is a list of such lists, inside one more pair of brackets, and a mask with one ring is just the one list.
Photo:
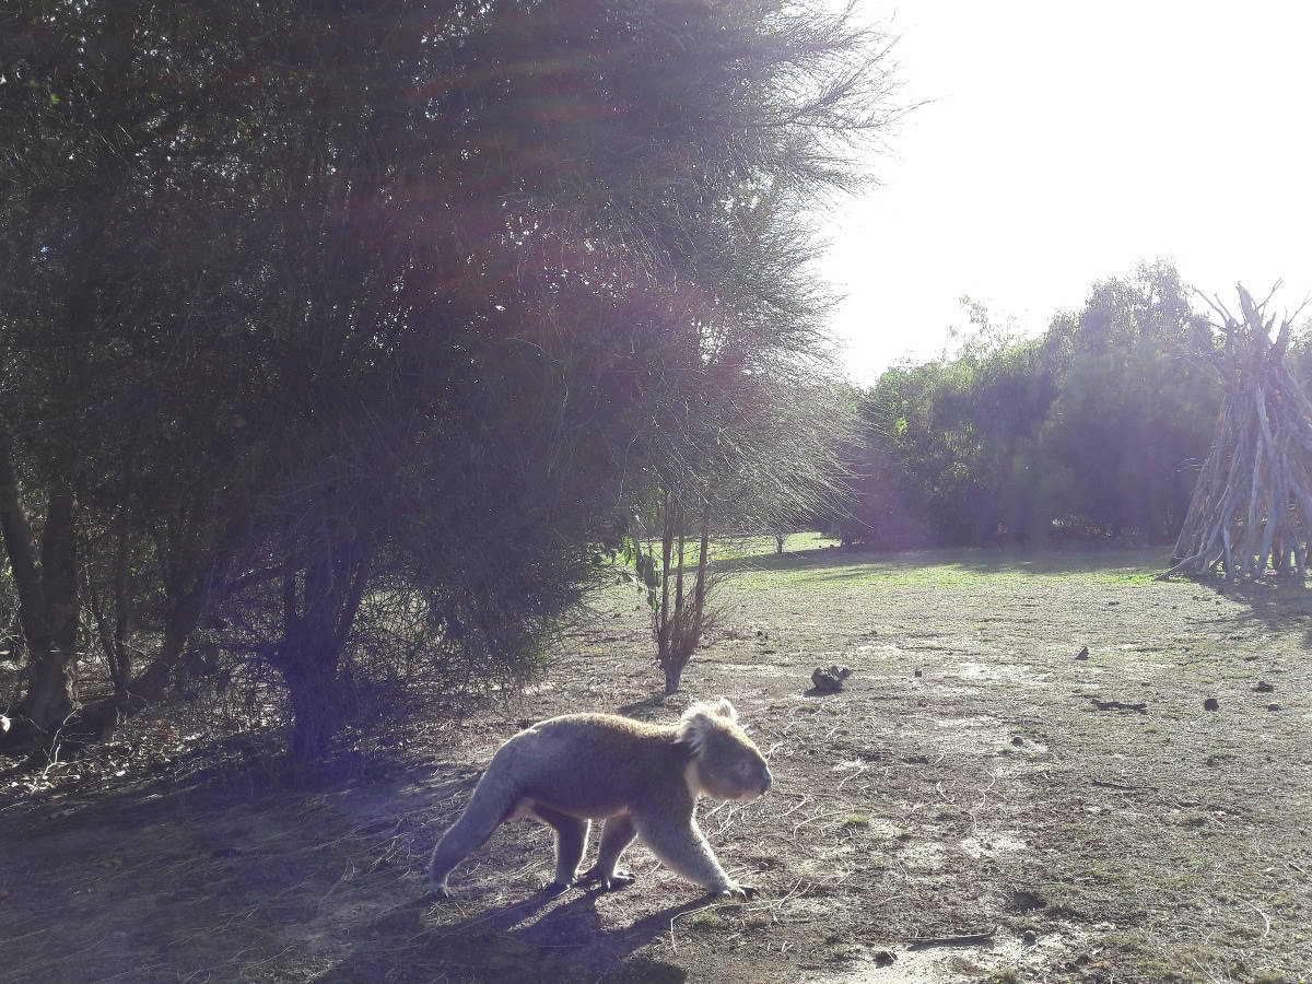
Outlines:
{"label": "grey furry koala walking on all fours across the dirt", "polygon": [[[770,789],[765,757],[726,698],[693,703],[677,724],[613,714],[565,714],[497,749],[468,806],[437,842],[428,869],[433,895],[450,897],[451,869],[506,820],[529,816],[555,829],[555,895],[571,884],[628,884],[619,855],[642,837],[666,867],[711,892],[747,899],[697,827],[699,795],[750,802]],[[597,863],[577,882],[593,820],[604,820]]]}

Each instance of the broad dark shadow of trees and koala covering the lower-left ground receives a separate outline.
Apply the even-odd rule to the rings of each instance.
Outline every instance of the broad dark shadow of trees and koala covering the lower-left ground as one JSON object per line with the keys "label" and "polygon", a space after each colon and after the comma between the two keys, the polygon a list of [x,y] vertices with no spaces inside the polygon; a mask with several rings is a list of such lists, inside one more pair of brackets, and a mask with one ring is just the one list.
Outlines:
{"label": "broad dark shadow of trees and koala covering the lower-left ground", "polygon": [[290,789],[268,762],[224,762],[230,750],[198,748],[114,794],[0,811],[0,981],[685,979],[626,959],[707,899],[607,928],[596,891],[537,891],[548,845],[504,879],[471,879],[476,899],[425,893],[434,817],[479,770],[412,765]]}

